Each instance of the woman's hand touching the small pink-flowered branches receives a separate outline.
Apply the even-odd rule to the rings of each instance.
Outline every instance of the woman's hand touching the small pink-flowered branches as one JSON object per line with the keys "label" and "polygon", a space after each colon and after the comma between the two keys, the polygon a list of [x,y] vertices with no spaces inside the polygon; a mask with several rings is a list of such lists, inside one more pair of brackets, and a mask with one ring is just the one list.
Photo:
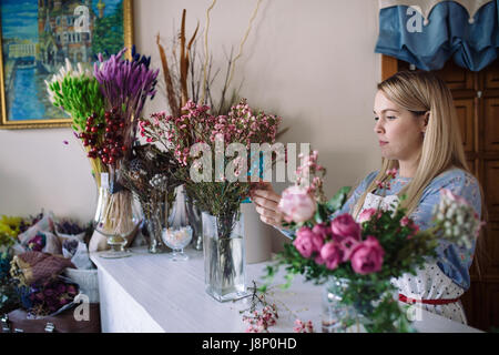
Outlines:
{"label": "woman's hand touching the small pink-flowered branches", "polygon": [[269,182],[259,183],[258,190],[253,190],[251,196],[261,221],[281,229],[283,214],[277,209],[281,195],[274,191],[272,184]]}

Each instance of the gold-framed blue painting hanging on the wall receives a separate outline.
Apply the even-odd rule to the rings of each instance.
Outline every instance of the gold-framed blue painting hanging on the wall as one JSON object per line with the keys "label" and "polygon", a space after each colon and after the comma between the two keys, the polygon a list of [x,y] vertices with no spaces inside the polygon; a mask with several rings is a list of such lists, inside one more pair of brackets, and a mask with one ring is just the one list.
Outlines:
{"label": "gold-framed blue painting hanging on the wall", "polygon": [[133,41],[132,0],[0,0],[0,129],[70,126],[45,80]]}

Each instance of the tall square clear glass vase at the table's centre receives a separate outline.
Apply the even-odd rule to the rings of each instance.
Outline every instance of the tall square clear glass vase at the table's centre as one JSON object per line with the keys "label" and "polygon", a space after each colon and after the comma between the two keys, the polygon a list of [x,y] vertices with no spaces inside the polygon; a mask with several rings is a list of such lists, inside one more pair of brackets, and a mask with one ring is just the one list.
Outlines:
{"label": "tall square clear glass vase at the table's centre", "polygon": [[206,293],[218,302],[246,296],[244,225],[241,213],[213,216],[203,212],[202,221]]}

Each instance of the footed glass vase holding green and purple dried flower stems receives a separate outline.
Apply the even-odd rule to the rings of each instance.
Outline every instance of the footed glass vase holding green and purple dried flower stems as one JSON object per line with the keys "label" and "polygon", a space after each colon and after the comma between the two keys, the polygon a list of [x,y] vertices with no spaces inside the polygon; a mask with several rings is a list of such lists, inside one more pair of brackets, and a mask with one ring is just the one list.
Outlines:
{"label": "footed glass vase holding green and purple dried flower stems", "polygon": [[114,174],[102,173],[95,231],[106,237],[109,251],[100,254],[105,258],[131,256],[125,245],[133,239],[141,222],[132,192],[118,183]]}

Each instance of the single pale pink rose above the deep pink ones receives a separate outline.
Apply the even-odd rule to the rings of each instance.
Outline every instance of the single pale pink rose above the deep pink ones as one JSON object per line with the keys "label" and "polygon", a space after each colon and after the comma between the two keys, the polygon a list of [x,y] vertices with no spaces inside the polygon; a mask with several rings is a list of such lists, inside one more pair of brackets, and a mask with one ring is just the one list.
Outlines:
{"label": "single pale pink rose above the deep pink ones", "polygon": [[315,201],[299,186],[291,186],[283,192],[278,209],[285,214],[287,222],[305,222],[314,216]]}

